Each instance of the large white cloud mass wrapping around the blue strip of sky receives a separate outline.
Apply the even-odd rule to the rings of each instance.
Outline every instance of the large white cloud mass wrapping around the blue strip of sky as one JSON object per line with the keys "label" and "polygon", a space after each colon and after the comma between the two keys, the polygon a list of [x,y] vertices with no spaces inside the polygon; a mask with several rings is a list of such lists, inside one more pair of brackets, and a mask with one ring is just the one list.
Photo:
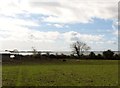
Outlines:
{"label": "large white cloud mass wrapping around the blue strip of sky", "polygon": [[90,0],[0,0],[0,42],[2,42],[0,48],[30,49],[34,45],[38,49],[66,50],[70,42],[75,40],[102,41],[103,35],[81,34],[75,31],[42,32],[29,29],[25,26],[40,26],[40,24],[37,21],[17,18],[17,15],[39,14],[43,16],[42,21],[51,22],[53,26],[62,28],[68,27],[66,26],[68,23],[89,23],[95,17],[116,19],[117,4],[118,0],[93,0],[93,2]]}

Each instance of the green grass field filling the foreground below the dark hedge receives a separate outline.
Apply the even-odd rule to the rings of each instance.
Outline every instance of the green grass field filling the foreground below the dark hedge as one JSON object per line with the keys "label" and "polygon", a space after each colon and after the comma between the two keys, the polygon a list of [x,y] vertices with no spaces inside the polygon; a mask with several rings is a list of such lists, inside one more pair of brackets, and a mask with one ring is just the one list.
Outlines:
{"label": "green grass field filling the foreground below the dark hedge", "polygon": [[116,86],[118,61],[67,60],[7,63],[3,86]]}

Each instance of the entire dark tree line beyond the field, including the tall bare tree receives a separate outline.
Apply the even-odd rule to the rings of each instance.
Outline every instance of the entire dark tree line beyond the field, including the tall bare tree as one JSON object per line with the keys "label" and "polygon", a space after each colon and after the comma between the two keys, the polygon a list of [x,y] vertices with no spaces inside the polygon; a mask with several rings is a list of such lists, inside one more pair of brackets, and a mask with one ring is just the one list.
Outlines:
{"label": "entire dark tree line beyond the field, including the tall bare tree", "polygon": [[[120,54],[115,54],[115,52],[111,51],[111,50],[107,50],[107,51],[103,51],[102,54],[95,54],[94,52],[90,52],[88,55],[84,55],[84,52],[90,50],[90,46],[88,46],[86,43],[80,42],[80,41],[76,41],[74,43],[72,43],[70,45],[71,49],[72,49],[72,54],[71,55],[65,55],[65,54],[61,54],[58,55],[56,53],[55,54],[50,54],[49,52],[46,54],[41,54],[41,53],[37,53],[37,50],[32,47],[33,49],[33,54],[32,55],[26,55],[26,56],[21,56],[21,57],[25,57],[25,58],[38,58],[38,59],[110,59],[110,60],[119,60],[120,59]],[[15,56],[18,57],[18,56]]]}

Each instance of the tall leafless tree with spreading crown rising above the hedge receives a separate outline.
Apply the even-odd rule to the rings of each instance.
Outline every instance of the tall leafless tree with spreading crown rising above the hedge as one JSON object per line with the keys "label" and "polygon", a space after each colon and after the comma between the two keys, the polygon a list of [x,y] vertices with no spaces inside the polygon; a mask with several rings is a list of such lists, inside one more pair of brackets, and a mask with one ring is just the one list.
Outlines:
{"label": "tall leafless tree with spreading crown rising above the hedge", "polygon": [[71,48],[73,49],[73,53],[77,54],[78,57],[80,57],[84,53],[84,51],[90,49],[90,47],[86,43],[80,41],[76,41],[71,44]]}

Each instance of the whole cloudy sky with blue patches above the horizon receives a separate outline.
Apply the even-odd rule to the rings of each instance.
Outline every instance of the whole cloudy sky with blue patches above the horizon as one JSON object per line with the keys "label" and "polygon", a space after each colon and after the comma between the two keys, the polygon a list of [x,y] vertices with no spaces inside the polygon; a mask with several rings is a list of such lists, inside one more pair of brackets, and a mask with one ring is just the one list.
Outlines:
{"label": "whole cloudy sky with blue patches above the horizon", "polygon": [[118,0],[0,0],[0,50],[118,50]]}

